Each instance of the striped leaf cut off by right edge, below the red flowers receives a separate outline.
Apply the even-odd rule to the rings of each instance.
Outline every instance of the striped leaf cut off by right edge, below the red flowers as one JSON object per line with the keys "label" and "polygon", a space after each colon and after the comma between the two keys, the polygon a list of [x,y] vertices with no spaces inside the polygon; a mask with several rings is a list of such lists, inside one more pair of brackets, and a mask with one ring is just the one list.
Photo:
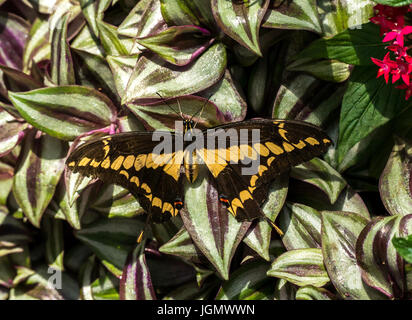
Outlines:
{"label": "striped leaf cut off by right edge, below the red flowers", "polygon": [[379,192],[391,215],[412,213],[412,146],[397,140],[379,179]]}

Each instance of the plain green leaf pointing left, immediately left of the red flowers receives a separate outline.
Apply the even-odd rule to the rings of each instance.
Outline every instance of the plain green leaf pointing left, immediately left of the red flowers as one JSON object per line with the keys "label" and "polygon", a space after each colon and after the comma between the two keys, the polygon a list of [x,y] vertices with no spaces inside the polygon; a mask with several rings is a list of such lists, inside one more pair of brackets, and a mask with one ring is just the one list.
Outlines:
{"label": "plain green leaf pointing left, immediately left of the red flowers", "polygon": [[368,23],[360,29],[348,29],[330,39],[319,39],[301,51],[296,59],[334,59],[353,65],[373,65],[371,57],[382,59],[386,44],[379,26]]}

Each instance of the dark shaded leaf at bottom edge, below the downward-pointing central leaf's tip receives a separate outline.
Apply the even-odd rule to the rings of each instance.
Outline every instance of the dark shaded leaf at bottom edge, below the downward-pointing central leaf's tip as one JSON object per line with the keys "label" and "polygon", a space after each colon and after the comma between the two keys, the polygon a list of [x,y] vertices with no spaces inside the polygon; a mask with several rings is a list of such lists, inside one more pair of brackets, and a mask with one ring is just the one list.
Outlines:
{"label": "dark shaded leaf at bottom edge, below the downward-pointing central leaf's tip", "polygon": [[216,300],[272,299],[273,282],[266,276],[268,269],[269,264],[260,261],[245,263],[223,283]]}

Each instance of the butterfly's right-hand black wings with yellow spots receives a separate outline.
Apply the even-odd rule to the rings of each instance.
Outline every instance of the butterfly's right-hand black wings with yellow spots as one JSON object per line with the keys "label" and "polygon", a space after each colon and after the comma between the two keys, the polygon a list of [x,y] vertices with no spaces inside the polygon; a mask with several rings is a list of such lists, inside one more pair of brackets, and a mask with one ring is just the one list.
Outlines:
{"label": "butterfly's right-hand black wings with yellow spots", "polygon": [[[213,129],[224,132],[232,129],[240,137],[241,129],[249,131],[246,138],[239,138],[237,146],[230,146],[227,138],[223,138],[225,148],[217,145],[214,150],[205,149],[202,156],[221,201],[240,221],[262,216],[260,205],[267,198],[267,184],[276,176],[322,155],[332,143],[319,127],[296,120],[259,119]],[[253,136],[252,130],[259,130],[258,137]],[[204,134],[208,135],[206,130]],[[217,137],[222,139],[222,134]]]}

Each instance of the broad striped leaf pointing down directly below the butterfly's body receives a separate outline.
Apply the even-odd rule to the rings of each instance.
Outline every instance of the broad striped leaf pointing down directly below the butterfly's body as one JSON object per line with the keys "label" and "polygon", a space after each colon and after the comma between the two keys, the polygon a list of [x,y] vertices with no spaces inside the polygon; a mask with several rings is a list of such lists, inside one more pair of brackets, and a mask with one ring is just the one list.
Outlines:
{"label": "broad striped leaf pointing down directly below the butterfly's body", "polygon": [[250,222],[237,222],[217,198],[217,190],[208,180],[198,179],[186,189],[181,216],[193,242],[227,280],[230,262]]}

